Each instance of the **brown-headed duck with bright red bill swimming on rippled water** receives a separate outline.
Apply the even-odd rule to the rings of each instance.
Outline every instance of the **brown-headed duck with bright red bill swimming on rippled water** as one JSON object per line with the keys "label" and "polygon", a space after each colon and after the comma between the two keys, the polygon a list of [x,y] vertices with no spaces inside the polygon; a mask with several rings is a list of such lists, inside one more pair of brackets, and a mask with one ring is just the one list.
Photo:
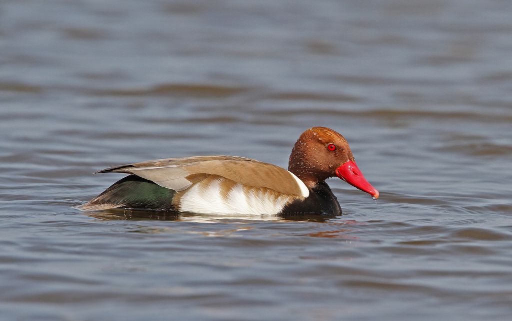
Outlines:
{"label": "brown-headed duck with bright red bill swimming on rippled water", "polygon": [[300,135],[288,170],[251,158],[215,155],[147,160],[96,173],[129,175],[78,206],[80,210],[337,216],[342,208],[325,182],[330,177],[379,197],[357,167],[345,137],[327,127],[312,127]]}

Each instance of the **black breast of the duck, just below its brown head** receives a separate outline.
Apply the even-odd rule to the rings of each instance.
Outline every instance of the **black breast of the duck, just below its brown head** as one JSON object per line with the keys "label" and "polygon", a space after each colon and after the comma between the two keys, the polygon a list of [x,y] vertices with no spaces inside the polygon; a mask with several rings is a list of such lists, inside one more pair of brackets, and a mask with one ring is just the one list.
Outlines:
{"label": "black breast of the duck, just below its brown head", "polygon": [[308,197],[294,200],[279,213],[283,216],[304,214],[342,215],[342,208],[327,183],[318,183],[309,189]]}

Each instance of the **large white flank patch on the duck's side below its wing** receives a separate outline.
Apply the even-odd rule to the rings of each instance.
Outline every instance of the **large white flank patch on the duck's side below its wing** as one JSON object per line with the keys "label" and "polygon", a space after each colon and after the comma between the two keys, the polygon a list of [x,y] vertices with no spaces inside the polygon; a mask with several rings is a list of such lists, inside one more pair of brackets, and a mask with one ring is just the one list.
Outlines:
{"label": "large white flank patch on the duck's side below its wing", "polygon": [[223,197],[220,193],[221,182],[222,178],[212,180],[206,186],[202,186],[202,184],[191,186],[181,196],[180,212],[221,215],[275,215],[290,200],[290,196],[284,194],[273,200],[273,194],[261,188],[252,188],[249,193],[245,193],[241,184],[234,185],[228,194]]}

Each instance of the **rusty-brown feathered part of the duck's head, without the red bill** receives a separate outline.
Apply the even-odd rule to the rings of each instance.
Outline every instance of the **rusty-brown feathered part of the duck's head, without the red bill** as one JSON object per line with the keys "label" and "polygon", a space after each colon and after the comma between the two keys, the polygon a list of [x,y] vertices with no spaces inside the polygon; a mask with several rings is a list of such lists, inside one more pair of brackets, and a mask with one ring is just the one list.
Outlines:
{"label": "rusty-brown feathered part of the duck's head, without the red bill", "polygon": [[[329,145],[335,149],[330,150]],[[332,148],[332,146],[331,146]],[[295,142],[288,161],[288,170],[313,188],[329,177],[336,168],[354,160],[345,137],[327,127],[312,127]]]}

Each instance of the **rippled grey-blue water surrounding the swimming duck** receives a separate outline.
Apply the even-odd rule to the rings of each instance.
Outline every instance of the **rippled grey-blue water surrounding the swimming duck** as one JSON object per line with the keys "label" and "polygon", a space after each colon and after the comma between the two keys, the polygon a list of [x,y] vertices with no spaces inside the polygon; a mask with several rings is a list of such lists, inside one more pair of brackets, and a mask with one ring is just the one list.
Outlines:
{"label": "rippled grey-blue water surrounding the swimming duck", "polygon": [[[3,1],[0,319],[509,320],[512,3]],[[88,215],[204,154],[344,134],[344,216]]]}

